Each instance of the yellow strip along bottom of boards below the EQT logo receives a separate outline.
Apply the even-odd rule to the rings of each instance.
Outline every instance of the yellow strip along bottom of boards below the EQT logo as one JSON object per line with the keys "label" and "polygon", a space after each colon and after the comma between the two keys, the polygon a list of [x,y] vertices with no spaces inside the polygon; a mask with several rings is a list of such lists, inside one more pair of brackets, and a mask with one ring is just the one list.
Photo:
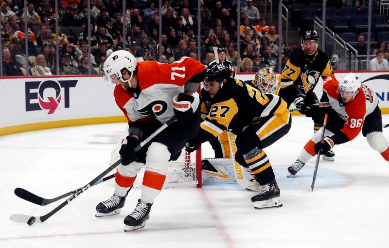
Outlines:
{"label": "yellow strip along bottom of boards below the EQT logo", "polygon": [[110,116],[110,117],[96,117],[96,118],[83,118],[74,120],[63,120],[53,122],[31,123],[15,126],[0,127],[0,136],[36,131],[42,129],[79,126],[79,125],[91,125],[91,124],[105,124],[105,123],[120,123],[127,122],[125,116]]}

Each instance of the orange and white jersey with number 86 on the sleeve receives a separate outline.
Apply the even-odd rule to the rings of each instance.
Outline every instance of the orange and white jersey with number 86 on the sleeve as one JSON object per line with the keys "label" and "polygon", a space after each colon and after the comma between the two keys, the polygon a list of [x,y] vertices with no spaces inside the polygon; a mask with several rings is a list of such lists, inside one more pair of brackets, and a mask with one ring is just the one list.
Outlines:
{"label": "orange and white jersey with number 86 on the sleeve", "polygon": [[334,75],[327,76],[323,81],[323,91],[332,108],[346,122],[340,131],[351,141],[361,131],[366,116],[378,105],[378,99],[369,87],[361,85],[355,98],[345,104],[338,94],[338,84]]}

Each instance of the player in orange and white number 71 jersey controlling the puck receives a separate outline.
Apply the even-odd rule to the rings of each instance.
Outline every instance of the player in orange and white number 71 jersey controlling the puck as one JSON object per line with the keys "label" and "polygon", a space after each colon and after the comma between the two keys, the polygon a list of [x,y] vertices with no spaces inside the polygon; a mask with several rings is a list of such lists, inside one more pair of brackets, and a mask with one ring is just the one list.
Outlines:
{"label": "player in orange and white number 71 jersey controlling the puck", "polygon": [[[141,198],[124,219],[124,230],[144,227],[154,199],[166,178],[168,160],[178,157],[186,142],[195,137],[200,124],[199,95],[205,67],[195,59],[182,57],[172,64],[136,62],[126,51],[112,53],[104,63],[107,82],[116,84],[114,97],[128,120],[129,135],[119,151],[122,164],[116,172],[114,194],[96,207],[96,217],[118,214],[137,173],[145,164]],[[174,115],[177,122],[134,152]]]}

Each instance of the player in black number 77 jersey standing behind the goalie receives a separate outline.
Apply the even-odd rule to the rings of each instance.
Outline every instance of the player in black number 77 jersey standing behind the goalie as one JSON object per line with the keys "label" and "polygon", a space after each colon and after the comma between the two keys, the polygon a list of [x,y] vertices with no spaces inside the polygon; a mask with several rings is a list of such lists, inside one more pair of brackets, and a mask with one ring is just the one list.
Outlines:
{"label": "player in black number 77 jersey standing behind the goalie", "polygon": [[[319,102],[313,89],[320,76],[325,78],[334,73],[327,54],[318,50],[318,39],[315,30],[304,33],[301,49],[296,50],[286,62],[278,77],[279,85],[275,90],[275,94],[281,96],[288,107],[294,103],[297,108],[300,108],[301,114],[312,118],[315,132],[323,125],[324,115],[318,111],[318,108],[309,107]],[[329,151],[323,154],[322,158],[334,161],[334,156],[334,152]]]}

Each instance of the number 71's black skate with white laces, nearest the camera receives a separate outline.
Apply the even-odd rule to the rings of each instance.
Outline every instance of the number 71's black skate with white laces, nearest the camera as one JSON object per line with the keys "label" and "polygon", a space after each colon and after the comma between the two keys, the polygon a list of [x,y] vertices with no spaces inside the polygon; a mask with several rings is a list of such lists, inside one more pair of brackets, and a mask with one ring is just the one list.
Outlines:
{"label": "number 71's black skate with white laces, nearest the camera", "polygon": [[150,217],[150,209],[152,205],[152,203],[141,202],[141,199],[139,199],[134,211],[128,214],[124,219],[124,231],[128,232],[143,228],[146,224],[146,220]]}

